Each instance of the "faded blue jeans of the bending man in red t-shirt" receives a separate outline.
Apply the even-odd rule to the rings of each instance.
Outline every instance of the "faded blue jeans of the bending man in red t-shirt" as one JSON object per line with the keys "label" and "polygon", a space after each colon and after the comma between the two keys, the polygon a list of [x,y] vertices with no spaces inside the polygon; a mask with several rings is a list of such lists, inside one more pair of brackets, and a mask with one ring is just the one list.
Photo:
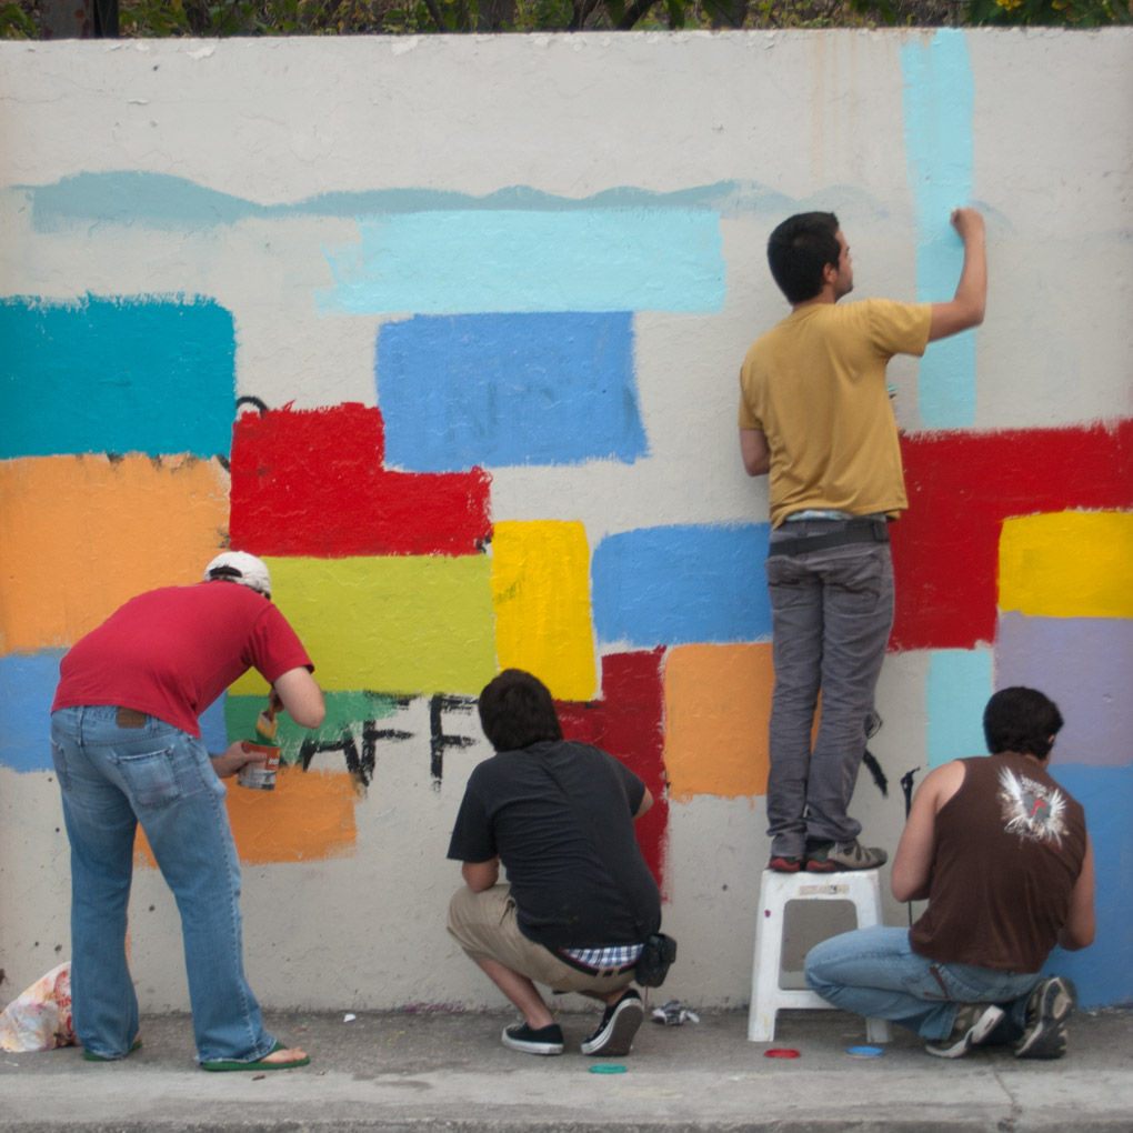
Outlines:
{"label": "faded blue jeans of the bending man in red t-shirt", "polygon": [[126,1055],[138,1032],[126,926],[140,823],[181,915],[197,1054],[202,1062],[255,1062],[275,1040],[244,976],[227,790],[199,740],[153,716],[122,727],[117,714],[88,706],[51,716],[71,845],[75,1032],[104,1058]]}

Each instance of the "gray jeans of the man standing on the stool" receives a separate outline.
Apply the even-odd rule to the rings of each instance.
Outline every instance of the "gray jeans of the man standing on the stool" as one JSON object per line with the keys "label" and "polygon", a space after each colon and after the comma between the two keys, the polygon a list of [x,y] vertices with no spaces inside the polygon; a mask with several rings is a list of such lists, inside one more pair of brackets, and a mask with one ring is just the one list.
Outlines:
{"label": "gray jeans of the man standing on the stool", "polygon": [[[775,855],[796,857],[808,841],[851,842],[861,833],[846,808],[893,627],[889,544],[775,554],[776,538],[843,527],[844,520],[804,520],[772,533],[766,570],[775,692],[767,833]],[[819,690],[823,712],[811,749]]]}

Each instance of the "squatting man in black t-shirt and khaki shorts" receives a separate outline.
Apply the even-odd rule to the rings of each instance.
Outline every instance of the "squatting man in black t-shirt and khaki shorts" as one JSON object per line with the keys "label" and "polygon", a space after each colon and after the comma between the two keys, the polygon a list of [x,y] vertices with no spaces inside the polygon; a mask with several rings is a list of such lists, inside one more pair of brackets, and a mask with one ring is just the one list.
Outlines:
{"label": "squatting man in black t-shirt and khaki shorts", "polygon": [[[661,927],[661,894],[633,834],[653,795],[605,751],[563,740],[551,692],[530,673],[504,670],[479,712],[496,753],[472,770],[457,815],[449,858],[465,885],[449,931],[523,1015],[504,1046],[562,1054],[543,983],[605,1005],[583,1054],[628,1054],[645,1013],[629,985]],[[499,884],[501,863],[509,884]]]}

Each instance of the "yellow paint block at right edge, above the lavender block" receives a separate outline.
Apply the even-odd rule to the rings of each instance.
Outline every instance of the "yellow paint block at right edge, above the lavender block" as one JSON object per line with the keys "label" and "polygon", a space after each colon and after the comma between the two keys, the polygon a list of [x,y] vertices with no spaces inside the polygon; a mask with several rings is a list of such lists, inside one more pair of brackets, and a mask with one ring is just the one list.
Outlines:
{"label": "yellow paint block at right edge, above the lavender block", "polygon": [[1133,617],[1133,514],[1062,511],[1004,521],[999,608]]}

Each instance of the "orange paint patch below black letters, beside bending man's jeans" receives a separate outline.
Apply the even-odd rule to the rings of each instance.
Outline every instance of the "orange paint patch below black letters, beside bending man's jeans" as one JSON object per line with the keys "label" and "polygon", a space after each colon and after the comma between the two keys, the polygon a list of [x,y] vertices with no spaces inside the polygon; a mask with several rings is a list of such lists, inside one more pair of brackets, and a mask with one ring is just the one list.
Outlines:
{"label": "orange paint patch below black letters, beside bending man's jeans", "polygon": [[[357,798],[346,772],[280,767],[274,791],[248,791],[230,780],[228,817],[240,861],[264,866],[350,857],[358,841]],[[150,868],[157,864],[140,829],[134,860]]]}

